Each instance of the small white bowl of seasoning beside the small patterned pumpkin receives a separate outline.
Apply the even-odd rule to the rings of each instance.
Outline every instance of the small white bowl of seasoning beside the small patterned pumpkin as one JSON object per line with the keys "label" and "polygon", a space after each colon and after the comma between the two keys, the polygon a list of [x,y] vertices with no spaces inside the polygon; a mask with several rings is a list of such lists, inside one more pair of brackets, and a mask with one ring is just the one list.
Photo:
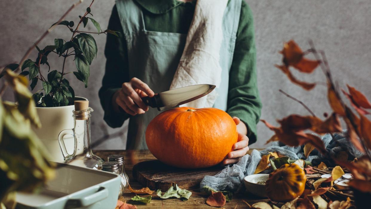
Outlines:
{"label": "small white bowl of seasoning beside the small patterned pumpkin", "polygon": [[268,177],[269,174],[252,174],[244,177],[243,182],[245,183],[247,192],[259,197],[267,197],[265,184],[258,184],[257,182],[266,182]]}

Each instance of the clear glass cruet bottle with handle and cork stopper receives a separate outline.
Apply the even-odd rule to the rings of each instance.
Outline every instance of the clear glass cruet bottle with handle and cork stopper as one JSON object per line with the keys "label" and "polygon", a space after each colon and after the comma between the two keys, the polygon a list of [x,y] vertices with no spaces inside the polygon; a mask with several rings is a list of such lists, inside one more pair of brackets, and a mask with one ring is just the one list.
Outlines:
{"label": "clear glass cruet bottle with handle and cork stopper", "polygon": [[[66,129],[60,132],[58,141],[64,163],[73,164],[91,169],[101,167],[104,160],[93,154],[90,147],[90,117],[93,109],[89,107],[89,101],[75,101],[75,110],[72,111],[74,118],[73,129]],[[73,154],[68,154],[63,136],[72,134],[75,138]]]}

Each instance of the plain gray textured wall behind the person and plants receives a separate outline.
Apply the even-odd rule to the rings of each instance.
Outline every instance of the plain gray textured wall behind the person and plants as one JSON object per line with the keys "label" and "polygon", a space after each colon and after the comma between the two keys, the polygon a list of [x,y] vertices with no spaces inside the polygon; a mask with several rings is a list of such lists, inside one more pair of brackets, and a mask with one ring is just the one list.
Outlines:
{"label": "plain gray textured wall behind the person and plants", "polygon": [[[0,1],[0,65],[18,62],[26,49],[56,22],[60,16],[76,0],[12,0]],[[371,98],[371,1],[370,0],[247,0],[255,18],[258,85],[263,102],[262,119],[276,124],[275,120],[289,114],[308,114],[298,103],[278,92],[283,89],[294,97],[302,100],[316,115],[322,117],[329,112],[326,100],[326,87],[318,85],[313,91],[307,92],[299,86],[291,84],[273,65],[280,63],[278,51],[285,41],[294,39],[303,49],[308,49],[308,39],[312,39],[317,49],[326,52],[332,74],[343,88],[345,84],[356,86]],[[66,20],[78,22],[78,16],[85,12],[91,3],[85,0],[74,9]],[[96,0],[92,6],[94,19],[102,29],[106,29],[114,0]],[[92,23],[88,23],[85,31],[96,32]],[[54,38],[69,39],[71,33],[64,26],[56,27],[40,46],[52,45]],[[111,137],[97,148],[124,149],[127,123],[121,129],[107,127],[103,118],[103,110],[99,104],[98,89],[104,74],[105,57],[104,34],[94,36],[98,44],[98,56],[91,65],[91,76],[88,88],[82,82],[68,74],[67,77],[76,95],[91,101],[95,110],[92,115],[93,142],[107,133],[123,132],[121,137]],[[36,50],[35,50],[36,51]],[[30,57],[35,59],[37,53]],[[75,71],[76,66],[68,59],[67,71]],[[63,59],[49,56],[51,69],[62,69]],[[44,69],[42,69],[45,71]],[[306,81],[324,82],[320,69],[311,75],[294,72],[298,78]],[[3,81],[0,81],[3,84]],[[40,85],[40,84],[38,84]],[[41,89],[37,86],[35,89]],[[10,91],[4,99],[13,100]],[[273,134],[258,124],[258,142],[251,147],[263,147],[265,141]],[[116,134],[117,135],[117,134]],[[120,135],[120,134],[118,134]]]}

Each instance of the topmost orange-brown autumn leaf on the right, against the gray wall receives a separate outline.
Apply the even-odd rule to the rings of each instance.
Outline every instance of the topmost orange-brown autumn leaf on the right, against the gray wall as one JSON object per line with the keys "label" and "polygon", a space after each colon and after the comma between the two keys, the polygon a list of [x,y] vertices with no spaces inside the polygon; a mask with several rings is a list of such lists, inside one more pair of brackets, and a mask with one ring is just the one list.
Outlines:
{"label": "topmost orange-brown autumn leaf on the right, against the gray wall", "polygon": [[300,47],[295,41],[290,40],[283,45],[282,49],[283,63],[293,66],[300,72],[311,73],[319,65],[319,61],[306,59]]}

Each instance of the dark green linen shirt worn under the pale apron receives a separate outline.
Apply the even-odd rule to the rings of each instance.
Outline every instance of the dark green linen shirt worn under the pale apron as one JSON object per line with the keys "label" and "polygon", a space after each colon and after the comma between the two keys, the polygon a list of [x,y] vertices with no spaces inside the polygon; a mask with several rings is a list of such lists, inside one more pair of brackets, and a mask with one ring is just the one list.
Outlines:
{"label": "dark green linen shirt worn under the pale apron", "polygon": [[[147,30],[170,33],[188,32],[196,1],[187,3],[177,0],[135,1],[142,7]],[[122,26],[116,6],[112,9],[108,28],[120,33],[118,37],[107,35],[106,69],[102,87],[99,89],[99,98],[104,109],[104,120],[109,126],[115,128],[121,127],[130,115],[113,111],[112,96],[121,88],[122,83],[131,79],[128,72],[126,41],[122,36]],[[257,89],[253,16],[244,0],[242,0],[236,46],[229,74],[227,113],[232,117],[239,117],[246,124],[249,144],[252,144],[256,142],[256,124],[260,118],[262,104]]]}

